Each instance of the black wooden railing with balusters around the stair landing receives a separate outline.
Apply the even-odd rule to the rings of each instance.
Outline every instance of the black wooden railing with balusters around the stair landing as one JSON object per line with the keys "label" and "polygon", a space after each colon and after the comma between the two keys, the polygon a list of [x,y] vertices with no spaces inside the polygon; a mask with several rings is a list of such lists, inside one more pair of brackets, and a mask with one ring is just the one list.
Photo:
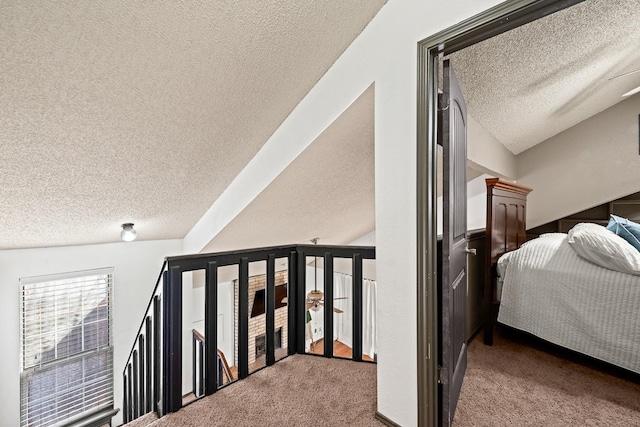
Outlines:
{"label": "black wooden railing with balusters around the stair landing", "polygon": [[[168,257],[156,282],[144,320],[123,372],[124,422],[148,412],[159,417],[178,411],[182,399],[182,275],[205,271],[204,334],[194,336],[193,392],[196,397],[215,393],[219,387],[234,379],[244,379],[249,372],[249,264],[266,263],[265,327],[275,330],[275,261],[286,259],[288,268],[287,355],[305,353],[305,325],[307,320],[306,268],[308,257],[322,258],[324,265],[324,306],[333,311],[333,261],[352,260],[353,277],[353,348],[352,359],[362,361],[362,288],[363,259],[375,259],[375,248],[356,246],[290,245],[248,249],[214,254]],[[235,265],[238,268],[238,355],[234,378],[224,354],[217,348],[217,292],[218,268]],[[324,316],[324,334],[333,336],[333,316]],[[266,333],[265,366],[277,362],[275,336]],[[206,339],[205,339],[206,337]],[[197,339],[196,339],[197,338]],[[196,343],[197,341],[197,343]],[[216,357],[208,356],[216,355]],[[324,340],[324,357],[333,357],[333,340]]]}

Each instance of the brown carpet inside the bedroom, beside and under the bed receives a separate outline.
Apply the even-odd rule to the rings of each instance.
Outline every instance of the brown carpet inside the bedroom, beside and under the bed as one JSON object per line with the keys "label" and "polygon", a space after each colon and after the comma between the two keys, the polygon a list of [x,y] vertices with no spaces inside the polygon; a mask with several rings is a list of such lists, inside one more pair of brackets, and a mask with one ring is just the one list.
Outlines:
{"label": "brown carpet inside the bedroom, beside and under the bed", "polygon": [[476,338],[454,426],[640,426],[640,376],[515,332]]}

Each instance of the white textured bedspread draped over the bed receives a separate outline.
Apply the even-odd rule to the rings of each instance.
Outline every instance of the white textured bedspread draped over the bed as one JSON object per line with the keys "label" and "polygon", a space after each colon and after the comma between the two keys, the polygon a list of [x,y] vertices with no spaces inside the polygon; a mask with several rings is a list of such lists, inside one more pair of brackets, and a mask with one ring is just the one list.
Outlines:
{"label": "white textured bedspread draped over the bed", "polygon": [[640,373],[640,277],[581,258],[545,234],[503,255],[498,321]]}

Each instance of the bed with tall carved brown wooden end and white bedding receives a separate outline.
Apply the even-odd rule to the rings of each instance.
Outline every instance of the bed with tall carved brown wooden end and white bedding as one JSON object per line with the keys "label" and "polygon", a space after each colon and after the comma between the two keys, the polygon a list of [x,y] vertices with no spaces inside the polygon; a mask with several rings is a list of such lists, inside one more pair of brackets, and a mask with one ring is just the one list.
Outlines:
{"label": "bed with tall carved brown wooden end and white bedding", "polygon": [[596,224],[527,241],[531,189],[487,180],[487,190],[485,343],[499,322],[640,373],[640,252]]}

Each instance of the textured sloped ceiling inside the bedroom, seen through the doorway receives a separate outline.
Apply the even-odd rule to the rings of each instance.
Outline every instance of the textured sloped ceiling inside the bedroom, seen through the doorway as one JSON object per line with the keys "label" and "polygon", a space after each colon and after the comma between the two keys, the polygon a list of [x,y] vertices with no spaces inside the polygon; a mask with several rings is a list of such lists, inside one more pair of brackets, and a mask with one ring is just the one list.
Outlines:
{"label": "textured sloped ceiling inside the bedroom, seen through the doorway", "polygon": [[587,0],[451,55],[468,111],[518,154],[640,86],[640,0]]}

